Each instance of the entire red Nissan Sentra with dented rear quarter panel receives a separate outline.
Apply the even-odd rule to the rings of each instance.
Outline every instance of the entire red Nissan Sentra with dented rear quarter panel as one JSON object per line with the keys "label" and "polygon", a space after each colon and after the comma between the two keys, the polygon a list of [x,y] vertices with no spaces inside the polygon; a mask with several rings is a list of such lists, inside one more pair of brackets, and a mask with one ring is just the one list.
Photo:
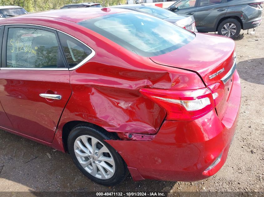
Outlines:
{"label": "entire red Nissan Sentra with dented rear quarter panel", "polygon": [[0,21],[1,129],[69,152],[92,181],[198,181],[227,159],[235,44],[118,8]]}

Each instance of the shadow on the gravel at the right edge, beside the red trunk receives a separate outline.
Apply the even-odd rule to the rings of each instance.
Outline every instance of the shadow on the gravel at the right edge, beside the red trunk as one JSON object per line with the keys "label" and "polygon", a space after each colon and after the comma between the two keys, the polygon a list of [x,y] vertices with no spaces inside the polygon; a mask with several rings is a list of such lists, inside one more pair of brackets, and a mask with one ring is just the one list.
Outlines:
{"label": "shadow on the gravel at the right edge, beside the red trunk", "polygon": [[243,80],[264,85],[264,58],[239,62],[237,71]]}

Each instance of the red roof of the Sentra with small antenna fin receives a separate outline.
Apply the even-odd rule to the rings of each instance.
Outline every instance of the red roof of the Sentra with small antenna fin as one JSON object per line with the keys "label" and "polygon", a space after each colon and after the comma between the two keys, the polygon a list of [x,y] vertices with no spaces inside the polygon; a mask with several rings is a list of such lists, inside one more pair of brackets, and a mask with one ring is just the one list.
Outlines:
{"label": "red roof of the Sentra with small antenna fin", "polygon": [[[106,11],[106,9],[108,9]],[[119,9],[119,8],[101,8],[101,7],[83,7],[83,8],[72,8],[72,9],[59,9],[59,10],[50,10],[50,11],[44,11],[44,12],[37,12],[37,13],[31,13],[31,14],[25,14],[20,16],[14,16],[10,17],[10,19],[28,19],[30,18],[42,18],[46,17],[52,18],[52,19],[62,19],[66,21],[71,21],[74,23],[78,23],[80,21],[84,21],[91,18],[96,18],[99,16],[104,16],[108,14],[114,14],[118,12],[130,12],[129,10],[125,9]],[[5,21],[7,21],[6,19]]]}

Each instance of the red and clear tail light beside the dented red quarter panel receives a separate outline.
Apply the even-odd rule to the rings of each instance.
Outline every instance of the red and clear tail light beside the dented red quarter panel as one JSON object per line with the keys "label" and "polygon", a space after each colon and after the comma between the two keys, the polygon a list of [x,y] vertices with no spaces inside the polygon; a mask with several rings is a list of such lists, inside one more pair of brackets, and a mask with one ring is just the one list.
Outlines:
{"label": "red and clear tail light beside the dented red quarter panel", "polygon": [[143,88],[140,92],[167,111],[167,120],[195,120],[214,109],[207,88],[189,91]]}

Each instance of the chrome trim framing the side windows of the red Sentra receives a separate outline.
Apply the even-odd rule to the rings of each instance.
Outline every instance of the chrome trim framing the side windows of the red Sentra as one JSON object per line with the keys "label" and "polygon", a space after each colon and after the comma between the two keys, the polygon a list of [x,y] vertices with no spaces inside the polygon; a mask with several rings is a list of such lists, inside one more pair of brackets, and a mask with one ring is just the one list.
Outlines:
{"label": "chrome trim framing the side windows of the red Sentra", "polygon": [[[80,63],[78,63],[76,66],[74,66],[72,68],[6,68],[6,67],[1,67],[0,70],[75,70],[75,69],[81,67],[83,64],[85,64],[87,61],[89,61],[90,59],[92,59],[95,56],[95,51],[91,47],[89,47],[87,44],[83,43],[81,40],[78,40],[77,38],[73,37],[72,35],[69,35],[69,34],[67,34],[61,30],[57,30],[57,29],[52,28],[52,27],[47,27],[47,26],[42,26],[42,25],[23,24],[23,23],[4,24],[4,25],[0,25],[0,27],[1,26],[13,26],[13,25],[26,25],[26,26],[33,26],[33,27],[38,26],[38,27],[44,27],[47,29],[59,31],[63,34],[66,34],[66,35],[74,38],[75,40],[79,41],[80,43],[84,44],[85,46],[87,46],[89,49],[92,50],[92,53],[89,54],[85,59],[83,59]],[[61,46],[60,42],[59,42],[59,45]],[[62,55],[64,55],[64,52],[62,53]]]}

